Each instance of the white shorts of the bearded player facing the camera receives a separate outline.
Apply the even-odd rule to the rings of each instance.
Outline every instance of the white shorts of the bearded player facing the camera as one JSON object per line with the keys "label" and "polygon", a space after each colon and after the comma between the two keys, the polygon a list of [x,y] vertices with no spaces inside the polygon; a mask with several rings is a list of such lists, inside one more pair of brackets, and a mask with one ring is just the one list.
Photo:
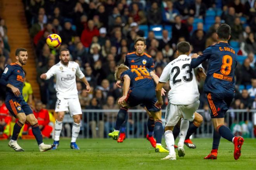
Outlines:
{"label": "white shorts of the bearded player facing the camera", "polygon": [[69,112],[71,116],[81,115],[82,109],[78,98],[57,98],[55,112]]}

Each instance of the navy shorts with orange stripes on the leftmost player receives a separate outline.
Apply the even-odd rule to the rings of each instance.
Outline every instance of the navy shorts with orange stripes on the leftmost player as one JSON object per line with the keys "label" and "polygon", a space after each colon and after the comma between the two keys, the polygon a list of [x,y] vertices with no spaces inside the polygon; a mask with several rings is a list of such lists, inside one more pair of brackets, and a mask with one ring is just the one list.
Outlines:
{"label": "navy shorts with orange stripes on the leftmost player", "polygon": [[7,99],[5,100],[5,105],[14,117],[19,113],[25,113],[25,115],[33,114],[32,109],[24,99]]}

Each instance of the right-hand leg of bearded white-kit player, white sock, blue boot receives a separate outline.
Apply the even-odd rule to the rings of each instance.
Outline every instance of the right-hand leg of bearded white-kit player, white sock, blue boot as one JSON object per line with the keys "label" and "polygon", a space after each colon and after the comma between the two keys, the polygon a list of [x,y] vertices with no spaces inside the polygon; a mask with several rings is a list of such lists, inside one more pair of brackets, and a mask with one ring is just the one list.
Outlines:
{"label": "right-hand leg of bearded white-kit player, white sock, blue boot", "polygon": [[72,127],[72,137],[71,137],[70,148],[79,150],[80,148],[76,144],[76,138],[78,137],[80,132],[81,118],[80,118],[80,115],[74,115],[73,118],[74,118],[74,123]]}

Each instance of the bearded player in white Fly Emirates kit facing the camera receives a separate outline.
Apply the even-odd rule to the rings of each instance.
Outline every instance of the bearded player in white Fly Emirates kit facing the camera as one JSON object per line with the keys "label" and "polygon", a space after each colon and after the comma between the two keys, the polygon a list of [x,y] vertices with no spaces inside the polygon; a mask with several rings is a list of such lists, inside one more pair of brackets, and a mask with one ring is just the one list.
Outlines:
{"label": "bearded player in white Fly Emirates kit facing the camera", "polygon": [[59,58],[61,60],[59,63],[52,66],[47,73],[40,76],[41,79],[45,80],[50,79],[52,76],[56,78],[57,102],[55,112],[57,112],[57,119],[54,128],[55,147],[52,149],[57,149],[57,146],[59,146],[62,120],[65,112],[69,112],[74,119],[70,147],[71,149],[79,149],[76,144],[76,138],[80,132],[80,116],[82,110],[76,89],[76,76],[85,83],[87,92],[90,91],[90,85],[85,75],[81,72],[79,65],[76,62],[69,61],[69,50],[62,49]]}

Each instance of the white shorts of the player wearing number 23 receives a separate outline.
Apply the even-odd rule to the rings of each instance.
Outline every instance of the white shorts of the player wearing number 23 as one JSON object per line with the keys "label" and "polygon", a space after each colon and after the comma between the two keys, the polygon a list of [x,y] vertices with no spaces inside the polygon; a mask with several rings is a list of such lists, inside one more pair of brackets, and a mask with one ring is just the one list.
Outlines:
{"label": "white shorts of the player wearing number 23", "polygon": [[165,113],[165,126],[175,126],[180,118],[183,116],[184,119],[193,121],[195,118],[195,111],[199,107],[199,100],[190,105],[173,105],[168,103]]}

